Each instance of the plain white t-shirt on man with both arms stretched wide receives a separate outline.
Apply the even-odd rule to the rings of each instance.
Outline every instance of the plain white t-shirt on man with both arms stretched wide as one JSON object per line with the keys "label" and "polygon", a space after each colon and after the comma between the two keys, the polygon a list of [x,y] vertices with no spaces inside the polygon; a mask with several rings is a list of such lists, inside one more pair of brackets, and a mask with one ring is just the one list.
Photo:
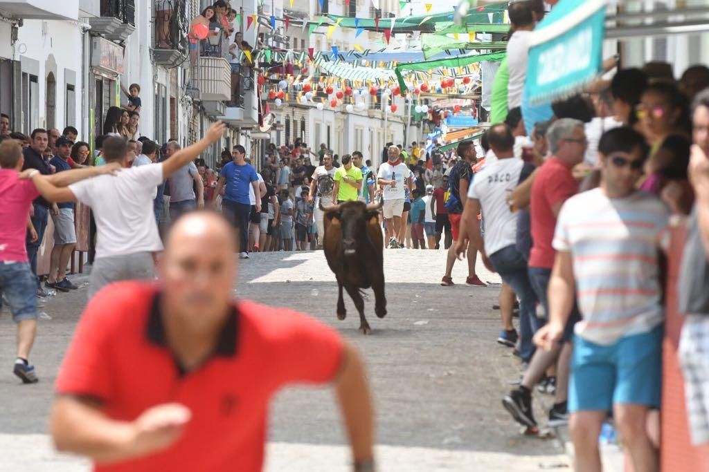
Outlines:
{"label": "plain white t-shirt on man with both arms stretched wide", "polygon": [[162,180],[162,163],[157,163],[69,185],[77,200],[94,210],[96,259],[162,251],[152,205]]}

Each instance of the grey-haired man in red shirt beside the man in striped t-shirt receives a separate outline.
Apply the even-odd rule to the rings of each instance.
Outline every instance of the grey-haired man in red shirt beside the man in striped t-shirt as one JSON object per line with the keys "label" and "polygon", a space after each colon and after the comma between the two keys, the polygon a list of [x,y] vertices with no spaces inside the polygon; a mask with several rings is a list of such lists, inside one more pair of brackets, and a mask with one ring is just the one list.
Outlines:
{"label": "grey-haired man in red shirt beside the man in striped t-shirt", "polygon": [[[584,123],[570,118],[557,120],[549,127],[547,141],[553,155],[537,169],[532,183],[530,219],[533,242],[528,271],[532,288],[549,319],[547,287],[557,252],[552,247],[552,239],[554,239],[554,229],[562,205],[579,191],[579,183],[572,175],[571,169],[584,161],[587,144]],[[549,426],[564,425],[568,422],[566,398],[569,360],[573,351],[571,336],[574,334],[574,324],[579,318],[579,312],[574,307],[566,323],[563,342],[557,343],[554,349],[549,351],[537,349],[519,388],[510,391],[503,398],[505,408],[522,425],[527,427],[537,425],[532,414],[532,388],[542,379],[546,370],[557,362],[557,359],[556,394],[554,406],[549,411]]]}

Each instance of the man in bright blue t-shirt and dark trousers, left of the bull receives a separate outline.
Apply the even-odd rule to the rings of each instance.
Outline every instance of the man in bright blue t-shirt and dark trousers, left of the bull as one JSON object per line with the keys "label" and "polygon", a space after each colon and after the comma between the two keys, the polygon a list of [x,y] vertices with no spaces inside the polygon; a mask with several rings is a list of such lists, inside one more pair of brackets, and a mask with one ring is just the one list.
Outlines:
{"label": "man in bright blue t-shirt and dark trousers, left of the bull", "polygon": [[224,184],[222,212],[239,230],[239,258],[248,259],[249,247],[249,215],[251,214],[251,199],[249,185],[254,189],[256,212],[261,212],[261,192],[256,169],[245,161],[246,149],[237,144],[231,151],[233,161],[227,163],[219,174],[219,182],[214,195],[220,195]]}

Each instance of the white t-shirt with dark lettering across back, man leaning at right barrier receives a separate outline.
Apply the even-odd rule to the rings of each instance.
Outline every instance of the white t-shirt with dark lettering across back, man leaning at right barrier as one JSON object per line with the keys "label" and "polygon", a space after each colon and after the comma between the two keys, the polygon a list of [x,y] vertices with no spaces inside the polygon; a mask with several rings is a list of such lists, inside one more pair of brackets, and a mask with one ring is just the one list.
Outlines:
{"label": "white t-shirt with dark lettering across back, man leaning at right barrier", "polygon": [[491,255],[512,246],[517,231],[517,213],[510,212],[507,196],[520,180],[521,159],[498,159],[476,173],[468,198],[480,200],[485,227],[485,252]]}

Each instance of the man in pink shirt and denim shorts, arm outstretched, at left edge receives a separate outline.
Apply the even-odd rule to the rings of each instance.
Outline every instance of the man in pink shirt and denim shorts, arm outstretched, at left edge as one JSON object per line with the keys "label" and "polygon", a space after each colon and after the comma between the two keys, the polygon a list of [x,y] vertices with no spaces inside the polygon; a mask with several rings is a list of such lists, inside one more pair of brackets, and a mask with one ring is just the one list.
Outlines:
{"label": "man in pink shirt and denim shorts, arm outstretched, at left edge", "polygon": [[[32,200],[40,194],[31,180],[23,180],[37,169],[20,173],[24,163],[22,148],[14,139],[0,143],[0,308],[3,296],[17,323],[16,376],[25,384],[38,381],[35,368],[28,362],[37,332],[37,279],[30,268],[25,244],[29,229],[33,241],[38,235],[30,222]],[[116,166],[66,171],[48,176],[54,185],[65,187],[84,178],[110,173]]]}

